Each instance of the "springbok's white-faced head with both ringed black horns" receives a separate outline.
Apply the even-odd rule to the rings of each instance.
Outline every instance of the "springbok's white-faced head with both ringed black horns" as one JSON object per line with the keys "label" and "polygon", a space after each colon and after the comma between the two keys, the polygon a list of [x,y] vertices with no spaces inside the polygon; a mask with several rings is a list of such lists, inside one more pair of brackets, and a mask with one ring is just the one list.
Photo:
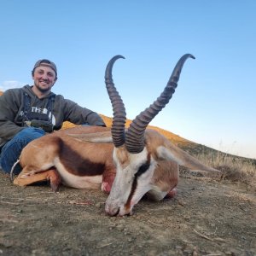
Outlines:
{"label": "springbok's white-faced head with both ringed black horns", "polygon": [[[186,54],[177,61],[166,88],[153,104],[137,115],[127,131],[125,130],[125,105],[112,79],[113,63],[124,57],[116,55],[108,62],[105,83],[113,107],[111,134],[114,145],[113,162],[116,166],[116,177],[105,206],[106,212],[111,216],[131,214],[137,202],[152,189],[151,179],[158,165],[154,156],[158,154],[160,147],[152,147],[152,142],[145,136],[145,130],[149,122],[172,98],[183,64],[189,57],[195,59],[193,55]],[[151,146],[148,147],[148,144]]]}

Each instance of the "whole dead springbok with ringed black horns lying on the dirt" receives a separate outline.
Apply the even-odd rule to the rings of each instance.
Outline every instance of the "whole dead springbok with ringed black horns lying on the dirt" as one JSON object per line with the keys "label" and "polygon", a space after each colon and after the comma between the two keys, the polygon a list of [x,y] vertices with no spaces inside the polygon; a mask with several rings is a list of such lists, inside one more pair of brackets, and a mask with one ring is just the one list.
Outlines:
{"label": "whole dead springbok with ringed black horns lying on the dirt", "polygon": [[[56,190],[60,183],[78,189],[99,189],[110,193],[105,211],[110,216],[131,214],[132,208],[147,194],[154,200],[176,194],[179,165],[190,170],[218,172],[177,148],[148,124],[172,98],[184,62],[183,55],[157,100],[125,129],[125,105],[116,90],[114,56],[106,67],[105,83],[113,107],[113,125],[78,126],[56,131],[29,143],[21,152],[22,172],[14,183],[25,186],[48,179]],[[15,165],[16,165],[15,164]],[[13,167],[14,170],[15,166]],[[13,170],[11,177],[13,176]]]}

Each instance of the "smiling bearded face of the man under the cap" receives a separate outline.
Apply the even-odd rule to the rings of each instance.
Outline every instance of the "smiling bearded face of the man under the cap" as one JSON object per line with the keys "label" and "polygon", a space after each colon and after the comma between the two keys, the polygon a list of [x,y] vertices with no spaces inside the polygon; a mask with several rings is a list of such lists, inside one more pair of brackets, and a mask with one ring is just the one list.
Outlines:
{"label": "smiling bearded face of the man under the cap", "polygon": [[35,69],[32,79],[38,90],[46,92],[55,84],[56,74],[52,68],[40,66]]}

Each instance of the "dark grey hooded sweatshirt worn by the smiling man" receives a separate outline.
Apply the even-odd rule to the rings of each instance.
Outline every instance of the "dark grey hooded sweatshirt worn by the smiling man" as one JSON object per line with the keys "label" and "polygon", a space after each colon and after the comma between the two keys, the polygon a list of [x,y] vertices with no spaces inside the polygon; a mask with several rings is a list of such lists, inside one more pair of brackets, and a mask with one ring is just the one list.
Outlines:
{"label": "dark grey hooded sweatshirt worn by the smiling man", "polygon": [[39,119],[46,117],[54,125],[54,130],[61,129],[64,121],[75,125],[105,126],[102,118],[90,109],[82,108],[76,102],[53,92],[39,99],[33,93],[32,86],[25,85],[22,88],[6,90],[0,96],[0,148],[27,127],[24,121],[37,119],[37,113]]}

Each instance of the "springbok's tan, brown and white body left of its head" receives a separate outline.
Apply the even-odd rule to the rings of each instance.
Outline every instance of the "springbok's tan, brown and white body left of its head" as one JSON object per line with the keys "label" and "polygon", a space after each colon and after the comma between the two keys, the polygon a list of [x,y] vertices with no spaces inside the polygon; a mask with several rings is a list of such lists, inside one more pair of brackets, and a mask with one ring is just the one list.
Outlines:
{"label": "springbok's tan, brown and white body left of its head", "polygon": [[77,189],[99,189],[102,185],[102,190],[109,192],[115,176],[113,144],[80,142],[68,136],[102,131],[109,129],[78,126],[32,141],[20,154],[22,172],[14,183],[24,186],[49,179],[54,191],[63,183]]}

